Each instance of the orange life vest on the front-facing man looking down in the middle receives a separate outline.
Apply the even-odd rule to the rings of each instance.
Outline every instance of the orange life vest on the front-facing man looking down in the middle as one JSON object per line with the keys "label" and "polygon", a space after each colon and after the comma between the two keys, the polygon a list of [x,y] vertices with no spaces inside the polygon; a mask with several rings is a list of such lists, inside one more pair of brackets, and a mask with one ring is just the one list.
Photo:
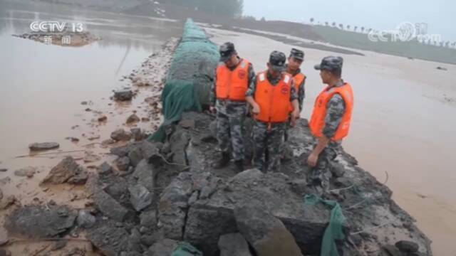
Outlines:
{"label": "orange life vest on the front-facing man looking down in the middle", "polygon": [[259,105],[256,119],[261,122],[286,122],[290,112],[291,76],[284,73],[276,85],[271,85],[266,72],[257,75],[255,101]]}

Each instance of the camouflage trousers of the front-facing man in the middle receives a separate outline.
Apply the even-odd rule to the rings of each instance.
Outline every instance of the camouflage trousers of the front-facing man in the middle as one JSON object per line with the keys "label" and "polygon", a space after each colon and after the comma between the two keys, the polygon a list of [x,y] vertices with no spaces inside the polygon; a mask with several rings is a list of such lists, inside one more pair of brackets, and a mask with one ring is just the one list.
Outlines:
{"label": "camouflage trousers of the front-facing man in the middle", "polygon": [[[254,141],[254,167],[263,171],[280,171],[281,144],[286,123],[268,124],[256,121],[252,130]],[[267,152],[267,156],[266,153]]]}

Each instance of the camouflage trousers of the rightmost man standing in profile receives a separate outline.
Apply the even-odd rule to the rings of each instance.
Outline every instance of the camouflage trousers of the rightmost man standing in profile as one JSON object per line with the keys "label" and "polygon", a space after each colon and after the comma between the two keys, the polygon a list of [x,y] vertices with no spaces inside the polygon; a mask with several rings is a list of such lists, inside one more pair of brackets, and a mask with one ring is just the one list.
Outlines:
{"label": "camouflage trousers of the rightmost man standing in profile", "polygon": [[328,190],[329,180],[331,179],[332,162],[337,156],[337,151],[332,146],[326,146],[321,151],[316,162],[316,166],[310,169],[307,181],[309,184],[323,188],[323,191]]}

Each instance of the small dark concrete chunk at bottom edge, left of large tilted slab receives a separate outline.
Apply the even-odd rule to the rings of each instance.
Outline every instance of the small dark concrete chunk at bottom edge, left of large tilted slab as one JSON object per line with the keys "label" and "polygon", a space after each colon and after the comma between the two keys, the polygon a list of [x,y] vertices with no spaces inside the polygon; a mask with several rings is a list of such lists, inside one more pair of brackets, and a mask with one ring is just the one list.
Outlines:
{"label": "small dark concrete chunk at bottom edge, left of large tilted slab", "polygon": [[220,256],[252,256],[247,241],[239,233],[220,236],[218,245]]}

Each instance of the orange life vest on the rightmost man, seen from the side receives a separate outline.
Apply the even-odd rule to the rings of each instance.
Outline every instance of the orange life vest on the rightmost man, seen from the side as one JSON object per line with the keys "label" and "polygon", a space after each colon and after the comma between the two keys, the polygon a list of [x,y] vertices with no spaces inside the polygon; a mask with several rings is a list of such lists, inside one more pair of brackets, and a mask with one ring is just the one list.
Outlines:
{"label": "orange life vest on the rightmost man, seen from the side", "polygon": [[351,113],[353,110],[353,90],[348,82],[346,82],[345,85],[332,87],[329,90],[328,87],[326,87],[322,92],[320,92],[315,100],[314,112],[312,112],[311,122],[309,123],[311,132],[315,137],[323,136],[322,131],[325,126],[326,104],[336,93],[341,95],[343,101],[345,102],[345,113],[342,116],[342,120],[337,128],[336,134],[330,138],[335,142],[345,138],[348,135],[348,130],[350,129]]}

